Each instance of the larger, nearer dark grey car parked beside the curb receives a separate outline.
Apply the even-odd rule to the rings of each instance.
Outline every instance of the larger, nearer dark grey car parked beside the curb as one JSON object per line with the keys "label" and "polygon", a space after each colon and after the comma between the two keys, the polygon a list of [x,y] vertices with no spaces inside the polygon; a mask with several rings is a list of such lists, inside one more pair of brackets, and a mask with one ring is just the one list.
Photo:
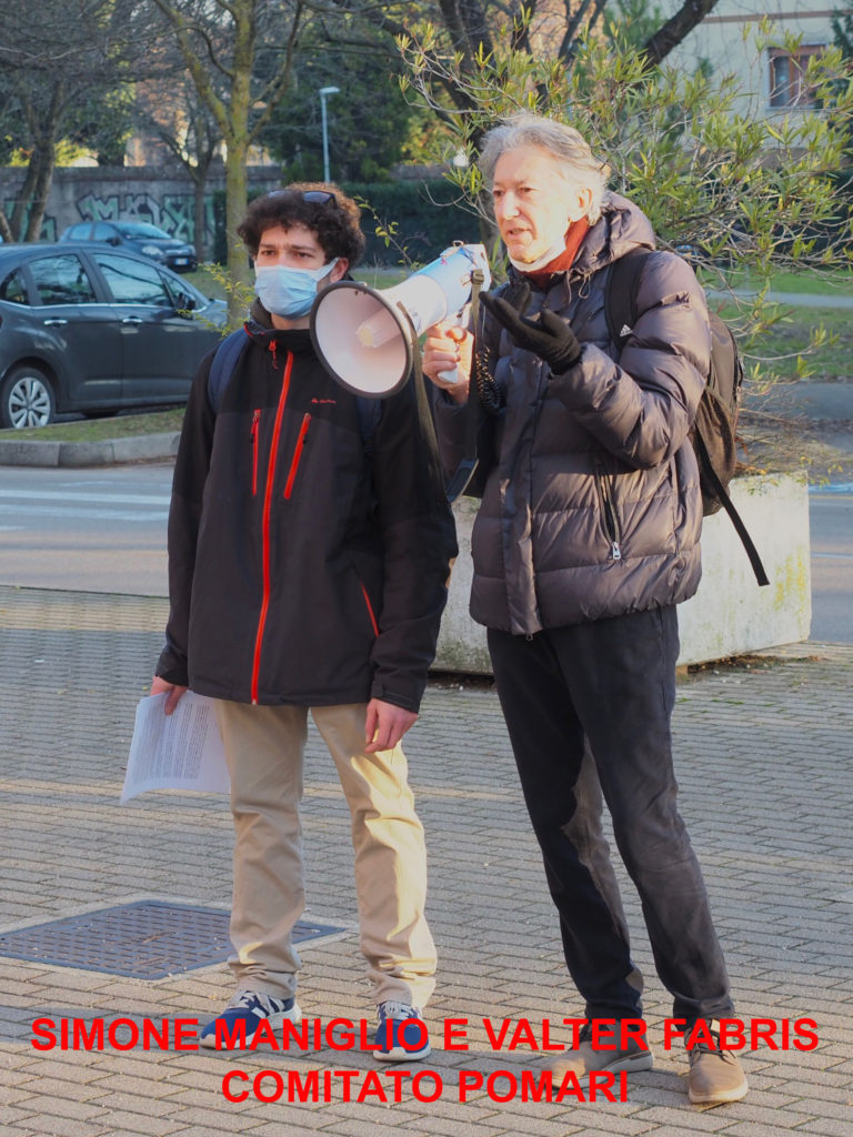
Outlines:
{"label": "larger, nearer dark grey car parked beside the curb", "polygon": [[102,244],[0,246],[0,426],[184,402],[225,305]]}

